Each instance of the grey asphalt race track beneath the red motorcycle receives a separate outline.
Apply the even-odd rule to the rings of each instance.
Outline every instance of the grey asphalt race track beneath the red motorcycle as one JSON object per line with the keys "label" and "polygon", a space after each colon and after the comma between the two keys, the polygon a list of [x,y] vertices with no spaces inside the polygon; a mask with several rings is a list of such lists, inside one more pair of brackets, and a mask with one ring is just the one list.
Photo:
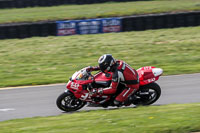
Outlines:
{"label": "grey asphalt race track beneath the red motorcycle", "polygon": [[[154,105],[200,102],[200,73],[162,76],[157,83],[162,95]],[[64,90],[65,84],[0,88],[0,121],[63,114],[55,102]],[[80,111],[94,109],[103,108],[84,107]]]}

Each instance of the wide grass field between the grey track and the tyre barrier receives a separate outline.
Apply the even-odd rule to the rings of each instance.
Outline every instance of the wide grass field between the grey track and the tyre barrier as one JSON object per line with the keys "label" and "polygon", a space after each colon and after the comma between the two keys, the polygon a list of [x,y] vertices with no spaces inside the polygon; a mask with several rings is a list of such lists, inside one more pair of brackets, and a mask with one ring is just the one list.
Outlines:
{"label": "wide grass field between the grey track and the tyre barrier", "polygon": [[164,75],[200,72],[200,27],[0,40],[0,87],[67,82],[82,67],[113,54],[133,68]]}

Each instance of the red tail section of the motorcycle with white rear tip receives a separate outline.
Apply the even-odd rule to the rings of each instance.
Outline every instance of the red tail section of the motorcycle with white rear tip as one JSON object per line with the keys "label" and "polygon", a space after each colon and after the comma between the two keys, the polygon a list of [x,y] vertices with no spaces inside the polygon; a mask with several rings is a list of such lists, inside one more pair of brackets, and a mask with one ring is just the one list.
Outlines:
{"label": "red tail section of the motorcycle with white rear tip", "polygon": [[140,86],[152,83],[159,79],[163,70],[153,66],[142,67],[137,70],[140,80]]}

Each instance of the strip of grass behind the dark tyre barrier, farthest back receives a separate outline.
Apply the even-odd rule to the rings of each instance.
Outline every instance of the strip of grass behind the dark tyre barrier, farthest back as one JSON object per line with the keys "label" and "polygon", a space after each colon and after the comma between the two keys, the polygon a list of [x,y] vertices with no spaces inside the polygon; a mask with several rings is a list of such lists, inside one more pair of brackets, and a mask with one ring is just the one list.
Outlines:
{"label": "strip of grass behind the dark tyre barrier, farthest back", "polygon": [[0,23],[71,20],[195,10],[200,10],[199,0],[155,0],[123,3],[111,2],[91,5],[1,9]]}

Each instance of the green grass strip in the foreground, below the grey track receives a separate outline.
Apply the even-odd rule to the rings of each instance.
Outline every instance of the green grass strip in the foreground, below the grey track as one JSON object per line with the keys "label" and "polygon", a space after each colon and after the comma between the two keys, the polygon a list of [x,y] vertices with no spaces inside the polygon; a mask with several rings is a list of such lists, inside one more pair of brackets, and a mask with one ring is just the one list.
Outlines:
{"label": "green grass strip in the foreground, below the grey track", "polygon": [[200,103],[83,111],[0,122],[1,133],[190,133],[194,131],[200,131]]}

